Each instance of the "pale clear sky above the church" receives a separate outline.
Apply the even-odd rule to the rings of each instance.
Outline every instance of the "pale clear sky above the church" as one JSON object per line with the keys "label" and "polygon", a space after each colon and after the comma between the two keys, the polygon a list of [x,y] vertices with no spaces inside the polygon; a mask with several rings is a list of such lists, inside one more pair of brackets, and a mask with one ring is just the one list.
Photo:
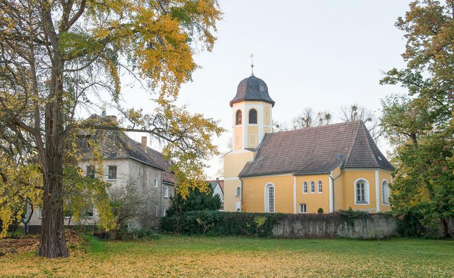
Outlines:
{"label": "pale clear sky above the church", "polygon": [[[339,121],[340,108],[352,103],[380,113],[380,100],[398,86],[380,85],[383,72],[402,68],[403,33],[394,23],[404,16],[410,1],[220,1],[223,20],[218,22],[212,52],[194,59],[200,68],[193,81],[181,87],[179,104],[192,112],[219,120],[227,132],[213,142],[228,152],[231,107],[238,83],[251,74],[265,81],[276,102],[274,121],[289,122],[305,107],[327,110]],[[141,94],[128,94],[131,106],[147,106]],[[140,142],[143,134],[129,134]],[[159,149],[156,143],[151,146]],[[385,153],[389,144],[378,144]],[[219,157],[208,161],[207,175],[216,178]]]}

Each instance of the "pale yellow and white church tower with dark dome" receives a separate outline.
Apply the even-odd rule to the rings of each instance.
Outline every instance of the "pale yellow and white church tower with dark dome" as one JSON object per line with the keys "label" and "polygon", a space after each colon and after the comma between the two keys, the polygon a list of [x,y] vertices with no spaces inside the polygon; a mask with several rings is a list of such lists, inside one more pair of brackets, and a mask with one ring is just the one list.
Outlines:
{"label": "pale yellow and white church tower with dark dome", "polygon": [[[251,65],[252,67],[254,65]],[[254,76],[243,79],[232,107],[232,150],[224,155],[224,210],[241,211],[241,180],[238,174],[266,133],[272,132],[272,112],[275,102],[269,97],[266,83]]]}

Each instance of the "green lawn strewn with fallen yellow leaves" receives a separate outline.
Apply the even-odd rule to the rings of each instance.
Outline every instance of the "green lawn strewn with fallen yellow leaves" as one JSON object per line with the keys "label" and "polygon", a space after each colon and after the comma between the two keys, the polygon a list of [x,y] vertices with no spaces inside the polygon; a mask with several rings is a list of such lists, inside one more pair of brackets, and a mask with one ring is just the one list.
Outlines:
{"label": "green lawn strewn with fallen yellow leaves", "polygon": [[454,241],[161,236],[89,240],[87,253],[0,257],[6,277],[452,277]]}

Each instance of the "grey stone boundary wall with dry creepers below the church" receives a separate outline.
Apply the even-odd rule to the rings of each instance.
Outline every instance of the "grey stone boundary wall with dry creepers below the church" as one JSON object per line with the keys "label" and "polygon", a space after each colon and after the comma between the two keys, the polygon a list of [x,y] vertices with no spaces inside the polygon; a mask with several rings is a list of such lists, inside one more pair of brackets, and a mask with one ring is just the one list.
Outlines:
{"label": "grey stone boundary wall with dry creepers below the church", "polygon": [[283,238],[383,239],[398,236],[397,221],[390,215],[371,214],[346,220],[340,214],[286,215],[273,227]]}

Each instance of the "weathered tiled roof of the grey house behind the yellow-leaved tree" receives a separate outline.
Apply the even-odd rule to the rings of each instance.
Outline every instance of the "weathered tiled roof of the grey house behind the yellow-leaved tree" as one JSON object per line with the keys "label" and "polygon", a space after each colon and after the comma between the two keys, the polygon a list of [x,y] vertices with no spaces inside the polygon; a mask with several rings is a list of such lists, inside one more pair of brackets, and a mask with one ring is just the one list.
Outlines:
{"label": "weathered tiled roof of the grey house behind the yellow-leaved tree", "polygon": [[[106,120],[100,115],[93,114],[88,118],[89,121],[102,123]],[[83,134],[89,134],[86,130]],[[98,140],[99,152],[104,159],[133,159],[151,167],[165,171],[163,179],[165,182],[175,183],[172,173],[167,170],[171,163],[164,159],[162,153],[147,147],[147,151],[142,148],[141,143],[132,140],[123,131],[98,129],[95,131],[95,138]],[[81,149],[82,159],[92,158],[90,149]]]}

